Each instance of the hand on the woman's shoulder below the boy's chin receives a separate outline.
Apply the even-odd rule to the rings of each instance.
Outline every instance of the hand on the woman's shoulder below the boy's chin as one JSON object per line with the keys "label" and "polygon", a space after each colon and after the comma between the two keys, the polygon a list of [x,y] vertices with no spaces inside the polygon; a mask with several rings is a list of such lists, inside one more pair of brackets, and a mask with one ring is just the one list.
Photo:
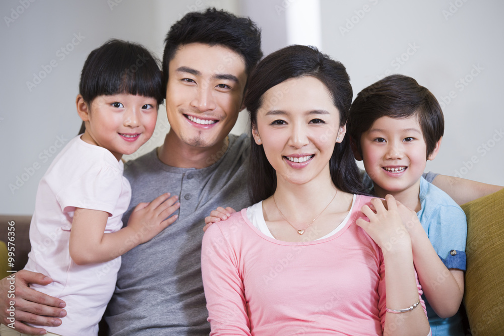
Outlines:
{"label": "hand on the woman's shoulder below the boy's chin", "polygon": [[360,218],[355,224],[364,229],[374,242],[382,248],[384,253],[403,250],[404,248],[411,250],[411,239],[403,225],[394,197],[386,195],[385,201],[380,198],[373,198],[371,199],[371,206],[375,211],[371,210],[367,205],[361,209],[369,222]]}

